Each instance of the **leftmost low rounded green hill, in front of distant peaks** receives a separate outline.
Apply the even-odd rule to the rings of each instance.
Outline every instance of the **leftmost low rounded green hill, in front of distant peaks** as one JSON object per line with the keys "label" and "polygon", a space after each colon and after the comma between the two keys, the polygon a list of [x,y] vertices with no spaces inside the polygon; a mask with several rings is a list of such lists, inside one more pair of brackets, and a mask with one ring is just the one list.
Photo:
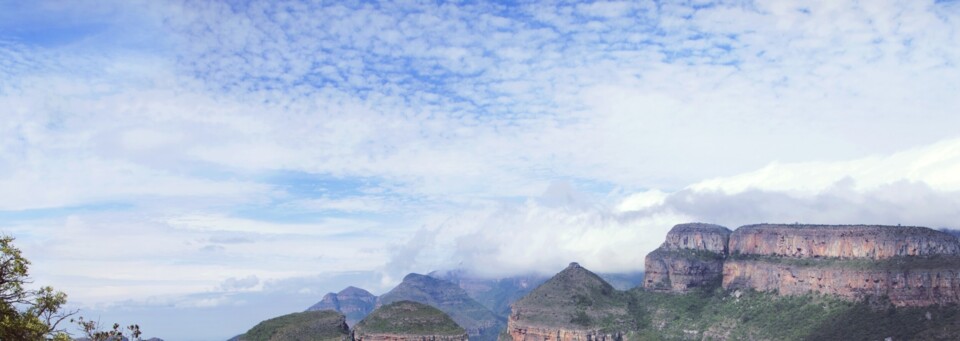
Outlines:
{"label": "leftmost low rounded green hill, in front of distant peaks", "polygon": [[345,317],[331,310],[306,311],[260,322],[240,341],[320,341],[343,340],[349,336]]}

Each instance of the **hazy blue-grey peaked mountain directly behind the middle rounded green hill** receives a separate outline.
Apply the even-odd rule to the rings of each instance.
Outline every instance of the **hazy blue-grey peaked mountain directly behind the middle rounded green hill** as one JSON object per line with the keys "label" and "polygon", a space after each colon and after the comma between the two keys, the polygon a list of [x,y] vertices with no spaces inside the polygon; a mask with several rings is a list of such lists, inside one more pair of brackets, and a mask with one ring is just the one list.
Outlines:
{"label": "hazy blue-grey peaked mountain directly behind the middle rounded green hill", "polygon": [[504,320],[474,300],[465,290],[448,281],[420,274],[409,274],[403,282],[378,299],[378,305],[398,301],[427,304],[450,315],[471,339],[495,340]]}

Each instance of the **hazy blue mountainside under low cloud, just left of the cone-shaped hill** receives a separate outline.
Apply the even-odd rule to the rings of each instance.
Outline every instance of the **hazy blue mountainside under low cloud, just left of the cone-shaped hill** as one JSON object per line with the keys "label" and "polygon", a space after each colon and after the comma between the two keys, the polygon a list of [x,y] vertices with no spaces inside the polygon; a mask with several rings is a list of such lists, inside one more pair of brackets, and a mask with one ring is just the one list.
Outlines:
{"label": "hazy blue mountainside under low cloud, just left of the cone-shaped hill", "polygon": [[471,298],[480,302],[504,320],[510,315],[510,305],[529,293],[549,277],[541,275],[506,278],[477,278],[463,270],[434,271],[428,276],[456,284]]}

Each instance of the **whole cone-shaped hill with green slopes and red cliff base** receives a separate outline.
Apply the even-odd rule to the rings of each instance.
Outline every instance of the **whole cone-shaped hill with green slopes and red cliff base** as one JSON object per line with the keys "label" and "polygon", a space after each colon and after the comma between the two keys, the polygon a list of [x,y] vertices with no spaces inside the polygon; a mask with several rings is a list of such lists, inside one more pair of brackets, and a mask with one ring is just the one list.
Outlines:
{"label": "whole cone-shaped hill with green slopes and red cliff base", "polygon": [[514,341],[616,340],[632,329],[630,297],[577,263],[513,304]]}

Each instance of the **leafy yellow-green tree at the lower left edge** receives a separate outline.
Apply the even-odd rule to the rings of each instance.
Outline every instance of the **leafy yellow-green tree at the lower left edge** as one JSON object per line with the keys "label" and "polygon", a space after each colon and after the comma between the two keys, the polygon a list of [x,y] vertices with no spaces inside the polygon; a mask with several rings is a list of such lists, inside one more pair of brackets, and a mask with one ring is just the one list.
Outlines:
{"label": "leafy yellow-green tree at the lower left edge", "polygon": [[13,237],[0,236],[0,340],[69,340],[58,329],[76,311],[64,311],[67,295],[51,287],[30,290],[30,261],[13,245]]}

